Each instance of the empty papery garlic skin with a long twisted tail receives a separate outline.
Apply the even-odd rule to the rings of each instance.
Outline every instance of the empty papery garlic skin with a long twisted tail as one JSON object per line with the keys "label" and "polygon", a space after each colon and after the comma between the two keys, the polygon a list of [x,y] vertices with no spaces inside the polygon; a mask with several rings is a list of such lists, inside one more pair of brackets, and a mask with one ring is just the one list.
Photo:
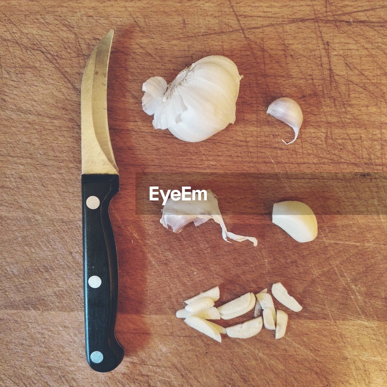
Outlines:
{"label": "empty papery garlic skin with a long twisted tail", "polygon": [[223,239],[227,242],[227,238],[238,242],[249,240],[257,246],[257,238],[252,236],[236,235],[227,231],[224,224],[222,214],[219,211],[217,196],[211,190],[207,190],[207,200],[198,200],[196,195],[193,200],[172,200],[169,198],[162,209],[160,223],[165,227],[171,229],[174,233],[180,233],[188,223],[194,222],[195,226],[200,226],[209,219],[220,224],[222,228]]}

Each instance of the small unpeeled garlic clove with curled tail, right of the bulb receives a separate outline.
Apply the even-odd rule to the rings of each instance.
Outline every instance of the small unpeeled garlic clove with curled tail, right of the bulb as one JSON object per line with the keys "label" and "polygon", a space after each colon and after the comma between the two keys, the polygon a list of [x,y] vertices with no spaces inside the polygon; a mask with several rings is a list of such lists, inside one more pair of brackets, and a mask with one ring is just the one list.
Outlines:
{"label": "small unpeeled garlic clove with curled tail, right of the bulb", "polygon": [[282,97],[276,99],[269,105],[266,113],[271,114],[278,120],[288,124],[294,130],[295,137],[291,142],[285,142],[286,145],[295,142],[298,132],[301,128],[303,115],[300,105],[291,98]]}

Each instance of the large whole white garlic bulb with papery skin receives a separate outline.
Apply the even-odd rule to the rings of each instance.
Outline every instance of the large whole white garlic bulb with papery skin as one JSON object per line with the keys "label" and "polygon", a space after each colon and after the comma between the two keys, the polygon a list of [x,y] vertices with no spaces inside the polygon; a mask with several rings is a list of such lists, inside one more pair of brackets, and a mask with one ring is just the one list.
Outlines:
{"label": "large whole white garlic bulb with papery skin", "polygon": [[155,129],[169,129],[183,141],[203,141],[235,122],[241,78],[231,59],[211,55],[169,85],[161,77],[148,79],[142,85],[142,109],[153,115]]}

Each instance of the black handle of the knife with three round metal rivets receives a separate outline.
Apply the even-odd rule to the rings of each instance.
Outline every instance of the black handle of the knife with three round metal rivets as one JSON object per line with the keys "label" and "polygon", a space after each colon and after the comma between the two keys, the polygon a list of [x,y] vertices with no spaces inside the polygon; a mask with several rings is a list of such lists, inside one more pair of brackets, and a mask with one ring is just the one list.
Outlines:
{"label": "black handle of the knife with three round metal rivets", "polygon": [[115,336],[118,262],[109,204],[118,175],[82,175],[86,359],[93,370],[116,368],[124,350]]}

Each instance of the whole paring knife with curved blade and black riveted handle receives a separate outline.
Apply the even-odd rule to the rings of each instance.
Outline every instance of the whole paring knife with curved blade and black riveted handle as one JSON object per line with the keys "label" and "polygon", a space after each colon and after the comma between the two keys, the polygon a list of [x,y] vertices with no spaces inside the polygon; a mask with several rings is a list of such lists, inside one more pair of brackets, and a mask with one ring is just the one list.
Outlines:
{"label": "whole paring knife with curved blade and black riveted handle", "polygon": [[115,336],[118,263],[109,217],[110,201],[119,189],[106,102],[113,32],[94,48],[83,73],[80,96],[86,358],[99,372],[116,368],[124,354]]}

